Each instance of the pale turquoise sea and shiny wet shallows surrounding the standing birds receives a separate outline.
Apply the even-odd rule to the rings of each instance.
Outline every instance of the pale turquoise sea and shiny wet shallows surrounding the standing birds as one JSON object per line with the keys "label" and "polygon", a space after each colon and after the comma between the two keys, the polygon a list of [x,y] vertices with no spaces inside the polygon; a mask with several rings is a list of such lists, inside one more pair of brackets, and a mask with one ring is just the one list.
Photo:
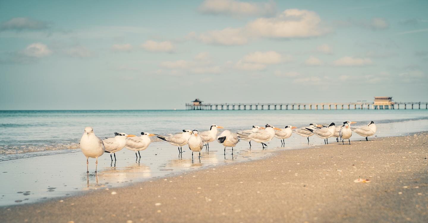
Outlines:
{"label": "pale turquoise sea and shiny wet shallows surrounding the standing birds", "polygon": [[[260,159],[278,150],[324,145],[323,139],[316,136],[309,138],[308,145],[306,138],[293,134],[282,148],[276,138],[265,150],[254,142],[250,150],[248,142],[240,142],[233,156],[230,148],[225,156],[223,147],[211,142],[209,152],[203,150],[200,159],[194,153],[192,159],[187,146],[183,146],[184,153],[179,155],[178,149],[166,142],[152,142],[137,159],[133,151],[126,149],[116,153],[116,162],[111,162],[105,153],[98,160],[97,174],[95,159],[89,159],[90,173],[86,174],[85,157],[76,149],[85,126],[92,126],[97,136],[111,137],[115,131],[165,134],[181,129],[204,130],[211,124],[235,131],[266,123],[283,127],[348,120],[366,125],[373,120],[378,129],[376,136],[380,137],[428,130],[427,114],[426,110],[0,111],[0,205],[71,196],[85,190],[189,174],[199,168],[209,171],[216,165]],[[363,139],[355,133],[351,138]],[[337,143],[330,138],[332,141]]]}

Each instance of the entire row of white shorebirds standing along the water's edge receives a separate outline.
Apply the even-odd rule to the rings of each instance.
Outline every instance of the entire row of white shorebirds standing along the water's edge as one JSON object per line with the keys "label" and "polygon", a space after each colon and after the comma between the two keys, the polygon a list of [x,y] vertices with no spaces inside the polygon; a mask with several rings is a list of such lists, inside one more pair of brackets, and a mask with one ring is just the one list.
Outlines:
{"label": "entire row of white shorebirds standing along the water's edge", "polygon": [[[351,124],[356,122],[343,122],[343,125],[336,126],[333,122],[329,126],[309,124],[309,126],[297,128],[295,126],[287,125],[284,128],[276,128],[272,125],[266,124],[265,127],[260,127],[253,125],[252,129],[244,130],[237,133],[232,133],[229,130],[224,130],[217,136],[218,129],[223,128],[217,125],[211,125],[210,130],[199,133],[198,130],[183,130],[182,133],[175,135],[168,134],[168,136],[161,136],[158,134],[151,134],[142,132],[141,136],[128,135],[126,133],[117,133],[112,138],[101,139],[95,136],[94,130],[92,127],[86,127],[85,132],[83,133],[82,138],[80,139],[80,149],[83,154],[86,156],[86,171],[89,173],[89,157],[95,158],[95,173],[97,172],[98,166],[98,157],[104,153],[110,153],[110,158],[113,161],[116,160],[116,152],[121,151],[123,148],[135,151],[135,156],[141,157],[140,151],[145,150],[150,145],[150,136],[156,136],[159,139],[169,142],[171,145],[178,147],[178,152],[182,153],[182,146],[188,145],[189,149],[193,152],[199,152],[199,157],[201,156],[201,151],[204,146],[209,149],[209,143],[217,142],[223,144],[224,154],[226,154],[226,147],[233,148],[238,144],[240,140],[258,142],[262,144],[262,148],[267,147],[268,145],[265,142],[269,142],[276,137],[281,140],[281,145],[285,145],[285,139],[289,138],[292,133],[297,133],[300,136],[307,137],[309,143],[309,136],[316,135],[321,139],[324,139],[324,143],[328,144],[328,138],[336,137],[336,141],[339,142],[339,137],[344,144],[344,140],[348,139],[349,144],[351,144],[352,132],[357,133],[360,136],[365,136],[368,141],[368,136],[373,136],[376,133],[375,122],[370,122],[369,125],[354,128],[351,127]],[[204,145],[205,144],[205,145]],[[113,156],[112,156],[113,154]],[[138,157],[137,156],[137,157]]]}

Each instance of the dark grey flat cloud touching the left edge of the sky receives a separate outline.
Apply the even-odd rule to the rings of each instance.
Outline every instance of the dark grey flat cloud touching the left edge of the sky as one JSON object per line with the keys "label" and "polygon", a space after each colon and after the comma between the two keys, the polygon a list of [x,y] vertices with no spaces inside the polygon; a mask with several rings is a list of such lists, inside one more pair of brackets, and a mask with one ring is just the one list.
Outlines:
{"label": "dark grey flat cloud touching the left edge of the sky", "polygon": [[1,23],[0,30],[40,30],[48,29],[48,23],[26,17],[16,17]]}

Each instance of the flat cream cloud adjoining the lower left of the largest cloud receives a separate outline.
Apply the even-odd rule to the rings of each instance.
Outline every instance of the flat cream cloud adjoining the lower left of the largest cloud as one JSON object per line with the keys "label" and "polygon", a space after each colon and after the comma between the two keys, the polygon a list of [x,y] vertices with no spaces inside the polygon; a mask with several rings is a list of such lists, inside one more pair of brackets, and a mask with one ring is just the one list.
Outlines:
{"label": "flat cream cloud adjoining the lower left of the largest cloud", "polygon": [[195,32],[190,32],[188,38],[194,38],[206,44],[219,45],[243,45],[248,43],[248,38],[243,33],[242,29],[226,28],[222,30],[212,30],[196,35]]}

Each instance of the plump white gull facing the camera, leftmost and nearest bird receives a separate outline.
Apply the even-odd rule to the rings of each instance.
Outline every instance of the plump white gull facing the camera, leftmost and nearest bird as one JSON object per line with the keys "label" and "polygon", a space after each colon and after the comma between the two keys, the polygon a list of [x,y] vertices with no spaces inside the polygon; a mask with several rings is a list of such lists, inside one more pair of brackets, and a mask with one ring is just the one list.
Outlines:
{"label": "plump white gull facing the camera, leftmost and nearest bird", "polygon": [[86,173],[89,173],[89,157],[95,158],[95,173],[97,172],[98,167],[98,157],[104,153],[104,143],[103,141],[95,136],[94,130],[92,127],[86,127],[85,132],[83,133],[82,138],[80,138],[80,149],[82,153],[86,156]]}

